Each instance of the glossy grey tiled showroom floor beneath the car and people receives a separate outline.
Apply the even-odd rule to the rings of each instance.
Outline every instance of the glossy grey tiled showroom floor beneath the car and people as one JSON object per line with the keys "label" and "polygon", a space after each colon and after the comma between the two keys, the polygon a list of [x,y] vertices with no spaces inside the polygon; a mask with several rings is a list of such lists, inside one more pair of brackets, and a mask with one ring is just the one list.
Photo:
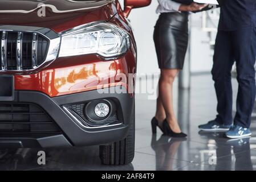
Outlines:
{"label": "glossy grey tiled showroom floor beneath the car and people", "polygon": [[[234,98],[237,84],[234,80]],[[177,83],[176,83],[177,85]],[[177,86],[176,86],[177,87]],[[151,134],[149,122],[155,100],[137,94],[136,153],[132,164],[101,166],[98,147],[46,151],[46,165],[38,166],[36,149],[0,150],[1,170],[253,170],[256,169],[256,121],[253,137],[228,140],[223,133],[202,133],[197,125],[216,115],[216,97],[210,75],[192,77],[190,90],[175,90],[175,107],[186,140]],[[235,105],[234,105],[235,110]]]}

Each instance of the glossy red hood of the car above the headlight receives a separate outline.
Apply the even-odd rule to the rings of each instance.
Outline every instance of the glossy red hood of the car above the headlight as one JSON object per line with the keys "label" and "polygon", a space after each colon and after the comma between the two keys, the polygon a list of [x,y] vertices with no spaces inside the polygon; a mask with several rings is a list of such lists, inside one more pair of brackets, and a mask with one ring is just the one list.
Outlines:
{"label": "glossy red hood of the car above the headlight", "polygon": [[114,0],[1,0],[0,24],[46,27],[61,32],[81,24],[108,20]]}

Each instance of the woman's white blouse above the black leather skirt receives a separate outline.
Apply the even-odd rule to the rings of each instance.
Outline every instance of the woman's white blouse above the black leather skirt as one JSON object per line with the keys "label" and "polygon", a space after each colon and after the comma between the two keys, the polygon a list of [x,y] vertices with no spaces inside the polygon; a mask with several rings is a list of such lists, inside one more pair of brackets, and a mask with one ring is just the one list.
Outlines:
{"label": "woman's white blouse above the black leather skirt", "polygon": [[159,1],[159,6],[156,9],[156,13],[177,12],[181,6],[181,3],[177,3],[172,0],[158,0],[158,1]]}

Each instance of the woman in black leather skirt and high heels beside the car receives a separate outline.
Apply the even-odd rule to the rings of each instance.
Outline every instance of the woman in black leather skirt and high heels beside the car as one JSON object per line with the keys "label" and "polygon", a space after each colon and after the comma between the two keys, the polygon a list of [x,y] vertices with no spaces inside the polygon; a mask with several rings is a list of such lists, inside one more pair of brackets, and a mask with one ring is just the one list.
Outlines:
{"label": "woman in black leather skirt and high heels beside the car", "polygon": [[[154,32],[157,59],[161,76],[157,111],[152,119],[152,132],[158,126],[170,137],[186,137],[173,110],[173,81],[183,68],[188,48],[188,16],[190,11],[199,11],[206,5],[191,3],[183,5],[171,0],[158,0],[157,13],[161,13]],[[180,1],[180,0],[179,0]]]}

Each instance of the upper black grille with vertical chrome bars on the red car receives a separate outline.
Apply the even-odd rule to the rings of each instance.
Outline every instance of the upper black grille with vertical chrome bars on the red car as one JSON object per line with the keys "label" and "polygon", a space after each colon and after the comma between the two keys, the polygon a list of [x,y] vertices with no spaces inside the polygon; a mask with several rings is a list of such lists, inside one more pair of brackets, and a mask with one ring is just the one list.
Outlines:
{"label": "upper black grille with vertical chrome bars on the red car", "polygon": [[47,56],[49,40],[33,32],[0,31],[0,71],[30,70]]}

